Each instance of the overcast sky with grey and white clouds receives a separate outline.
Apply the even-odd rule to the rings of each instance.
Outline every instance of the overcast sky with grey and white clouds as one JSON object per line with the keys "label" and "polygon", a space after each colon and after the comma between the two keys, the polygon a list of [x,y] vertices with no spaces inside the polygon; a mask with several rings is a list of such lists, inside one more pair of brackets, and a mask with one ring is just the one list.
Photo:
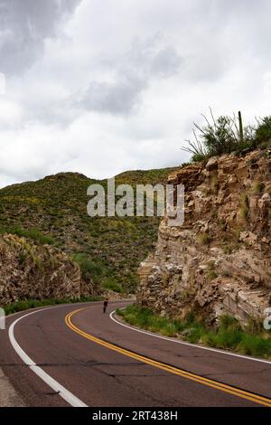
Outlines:
{"label": "overcast sky with grey and white clouds", "polygon": [[270,0],[0,0],[0,186],[180,165],[209,106],[269,115],[270,16]]}

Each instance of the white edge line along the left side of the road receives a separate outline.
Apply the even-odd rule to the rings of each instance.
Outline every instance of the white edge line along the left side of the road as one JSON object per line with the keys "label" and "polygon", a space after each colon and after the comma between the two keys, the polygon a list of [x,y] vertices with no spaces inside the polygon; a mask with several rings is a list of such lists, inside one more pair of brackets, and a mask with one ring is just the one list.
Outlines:
{"label": "white edge line along the left side of the road", "polygon": [[[58,307],[64,307],[64,306],[58,306]],[[66,307],[66,306],[65,306]],[[46,310],[49,310],[51,308],[57,308],[57,307],[48,307],[45,308]],[[85,404],[83,401],[80,401],[74,394],[69,392],[65,387],[61,385],[61,383],[55,381],[51,376],[44,372],[43,369],[40,366],[37,366],[33,362],[33,360],[23,351],[21,346],[17,343],[15,337],[14,337],[14,326],[22,320],[24,317],[34,315],[35,313],[39,313],[41,311],[44,311],[44,308],[41,310],[35,310],[31,313],[28,313],[27,315],[19,317],[17,320],[15,320],[11,326],[9,326],[8,329],[8,336],[11,345],[14,347],[15,352],[21,357],[23,360],[23,363],[26,364],[36,375],[38,375],[43,382],[45,382],[48,386],[51,387],[51,389],[55,392],[57,392],[62,399],[67,401],[70,406],[72,407],[88,407],[87,404]]]}

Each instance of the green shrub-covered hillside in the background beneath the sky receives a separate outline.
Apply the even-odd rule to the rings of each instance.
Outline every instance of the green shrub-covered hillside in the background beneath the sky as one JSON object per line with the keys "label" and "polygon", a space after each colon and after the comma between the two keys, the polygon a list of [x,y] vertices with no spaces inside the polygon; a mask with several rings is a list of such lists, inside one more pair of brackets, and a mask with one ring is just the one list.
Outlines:
{"label": "green shrub-covered hillside in the background beneath the sky", "polygon": [[[164,184],[174,170],[130,171],[117,175],[116,184]],[[89,217],[87,188],[93,183],[106,187],[107,181],[60,173],[1,189],[0,231],[63,250],[96,288],[134,291],[136,269],[154,247],[160,219]]]}

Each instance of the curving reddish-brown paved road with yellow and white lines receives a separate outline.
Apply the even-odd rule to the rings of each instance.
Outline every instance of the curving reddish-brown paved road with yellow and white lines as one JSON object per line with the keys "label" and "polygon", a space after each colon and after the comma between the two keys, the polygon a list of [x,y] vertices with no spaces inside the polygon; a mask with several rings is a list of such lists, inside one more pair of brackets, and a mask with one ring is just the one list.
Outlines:
{"label": "curving reddish-brown paved road with yellow and white lines", "polygon": [[98,302],[8,317],[8,326],[22,318],[0,332],[0,366],[24,403],[271,407],[271,364],[121,326],[109,313],[125,305],[110,303],[106,315]]}

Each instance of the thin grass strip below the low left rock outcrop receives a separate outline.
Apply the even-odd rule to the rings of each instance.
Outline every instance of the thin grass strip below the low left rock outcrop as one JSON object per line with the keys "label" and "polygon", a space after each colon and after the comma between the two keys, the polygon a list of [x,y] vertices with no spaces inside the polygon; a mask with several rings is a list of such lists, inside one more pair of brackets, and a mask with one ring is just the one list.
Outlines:
{"label": "thin grass strip below the low left rock outcrop", "polygon": [[74,304],[74,303],[83,303],[91,301],[99,301],[100,297],[80,297],[80,298],[61,298],[61,299],[26,299],[23,301],[16,301],[12,304],[8,304],[3,307],[5,310],[5,315],[11,315],[23,310],[29,310],[30,308],[35,307],[45,307],[45,306],[57,306],[59,304]]}

